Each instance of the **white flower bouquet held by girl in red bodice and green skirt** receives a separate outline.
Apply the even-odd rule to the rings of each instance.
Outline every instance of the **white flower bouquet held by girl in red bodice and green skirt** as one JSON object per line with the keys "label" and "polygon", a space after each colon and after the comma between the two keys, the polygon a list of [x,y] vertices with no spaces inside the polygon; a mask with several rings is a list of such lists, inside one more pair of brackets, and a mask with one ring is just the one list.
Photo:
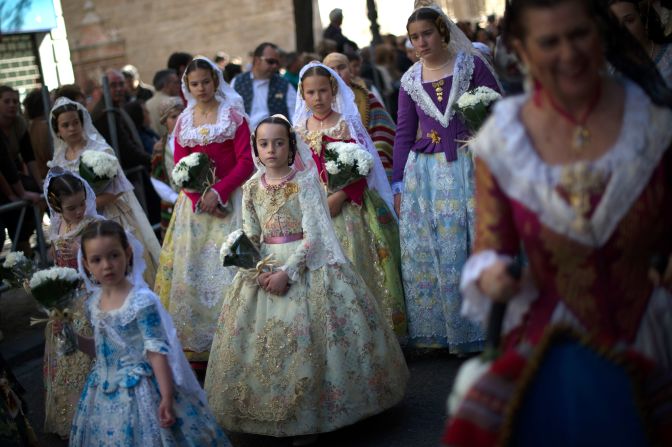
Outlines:
{"label": "white flower bouquet held by girl in red bodice and green skirt", "polygon": [[327,143],[324,159],[330,192],[366,177],[373,167],[373,156],[356,143]]}

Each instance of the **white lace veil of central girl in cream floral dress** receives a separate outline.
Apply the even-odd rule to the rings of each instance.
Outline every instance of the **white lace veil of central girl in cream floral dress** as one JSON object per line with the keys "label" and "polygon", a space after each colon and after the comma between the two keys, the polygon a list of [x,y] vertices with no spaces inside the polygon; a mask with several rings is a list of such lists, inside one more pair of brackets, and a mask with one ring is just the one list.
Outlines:
{"label": "white lace veil of central girl in cream floral dress", "polygon": [[[273,116],[287,121],[291,129],[291,124],[285,116]],[[259,126],[257,126],[258,128]],[[255,135],[256,131],[255,129]],[[297,152],[292,167],[296,171],[294,180],[299,185],[303,237],[309,247],[306,255],[306,266],[309,270],[316,270],[325,265],[344,264],[346,262],[345,256],[331,223],[327,195],[322,187],[312,153],[300,138],[296,138],[296,143]],[[259,182],[261,176],[266,173],[266,167],[261,163],[259,157],[254,155],[254,149],[252,150],[252,159],[257,171],[252,176],[251,181]]]}

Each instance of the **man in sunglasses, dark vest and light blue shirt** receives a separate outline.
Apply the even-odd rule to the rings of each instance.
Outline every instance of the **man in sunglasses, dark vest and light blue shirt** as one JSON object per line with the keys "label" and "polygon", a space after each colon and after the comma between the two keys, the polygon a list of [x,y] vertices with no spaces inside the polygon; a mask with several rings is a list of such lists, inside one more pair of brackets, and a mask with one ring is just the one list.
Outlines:
{"label": "man in sunglasses, dark vest and light blue shirt", "polygon": [[254,50],[252,70],[236,76],[231,83],[245,101],[251,129],[267,116],[277,113],[292,119],[296,90],[278,74],[279,68],[277,45],[264,42]]}

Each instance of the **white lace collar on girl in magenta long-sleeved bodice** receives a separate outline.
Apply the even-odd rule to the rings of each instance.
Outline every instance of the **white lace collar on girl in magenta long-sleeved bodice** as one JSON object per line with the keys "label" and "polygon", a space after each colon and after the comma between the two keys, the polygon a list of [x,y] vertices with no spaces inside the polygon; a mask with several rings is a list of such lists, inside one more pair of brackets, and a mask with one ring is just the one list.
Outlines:
{"label": "white lace collar on girl in magenta long-sleeved bodice", "polygon": [[194,107],[187,107],[180,114],[176,125],[177,140],[182,147],[205,146],[210,143],[223,143],[236,134],[243,117],[226,107],[219,98],[217,122],[194,127]]}

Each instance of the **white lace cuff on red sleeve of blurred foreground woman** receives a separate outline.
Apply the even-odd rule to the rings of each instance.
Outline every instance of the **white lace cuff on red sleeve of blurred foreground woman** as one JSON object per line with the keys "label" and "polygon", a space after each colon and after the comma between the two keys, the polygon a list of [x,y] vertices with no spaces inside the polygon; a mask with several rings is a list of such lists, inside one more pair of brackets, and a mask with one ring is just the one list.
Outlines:
{"label": "white lace cuff on red sleeve of blurred foreground woman", "polygon": [[[473,254],[462,270],[460,291],[462,292],[462,315],[485,326],[490,314],[492,300],[478,288],[481,273],[497,261],[511,261],[510,256],[498,255],[494,250],[485,250]],[[502,330],[504,333],[518,326],[530,304],[537,299],[538,291],[531,281],[523,277],[520,292],[515,295],[506,307]]]}

